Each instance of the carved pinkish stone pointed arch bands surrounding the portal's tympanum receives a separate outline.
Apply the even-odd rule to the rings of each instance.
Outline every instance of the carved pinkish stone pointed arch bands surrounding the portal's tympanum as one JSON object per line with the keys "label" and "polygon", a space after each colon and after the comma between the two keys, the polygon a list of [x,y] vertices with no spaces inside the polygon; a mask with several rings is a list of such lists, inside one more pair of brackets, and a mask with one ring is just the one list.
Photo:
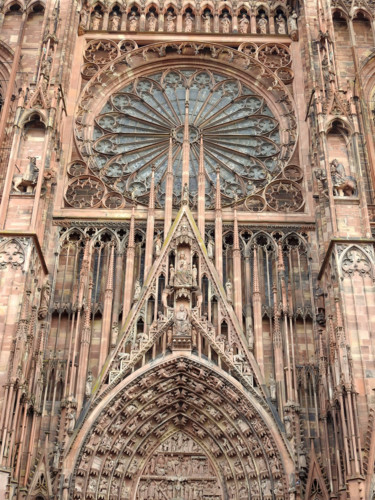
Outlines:
{"label": "carved pinkish stone pointed arch bands surrounding the portal's tympanum", "polygon": [[279,424],[230,375],[191,355],[144,366],[92,403],[64,460],[72,498],[138,498],[146,464],[179,432],[205,451],[222,492],[285,498],[293,462]]}

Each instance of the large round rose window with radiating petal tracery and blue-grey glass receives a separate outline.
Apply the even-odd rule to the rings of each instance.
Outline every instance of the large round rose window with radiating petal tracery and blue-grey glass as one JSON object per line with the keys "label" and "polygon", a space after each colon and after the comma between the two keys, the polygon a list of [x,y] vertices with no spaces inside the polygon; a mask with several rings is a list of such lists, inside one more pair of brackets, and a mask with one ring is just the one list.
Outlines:
{"label": "large round rose window with radiating petal tracery and blue-grey glass", "polygon": [[280,143],[278,121],[250,87],[216,72],[168,70],[109,98],[95,120],[89,167],[109,190],[147,203],[154,166],[156,203],[163,206],[171,158],[174,204],[188,177],[194,206],[203,151],[209,208],[217,171],[224,205],[264,190],[285,161]]}

